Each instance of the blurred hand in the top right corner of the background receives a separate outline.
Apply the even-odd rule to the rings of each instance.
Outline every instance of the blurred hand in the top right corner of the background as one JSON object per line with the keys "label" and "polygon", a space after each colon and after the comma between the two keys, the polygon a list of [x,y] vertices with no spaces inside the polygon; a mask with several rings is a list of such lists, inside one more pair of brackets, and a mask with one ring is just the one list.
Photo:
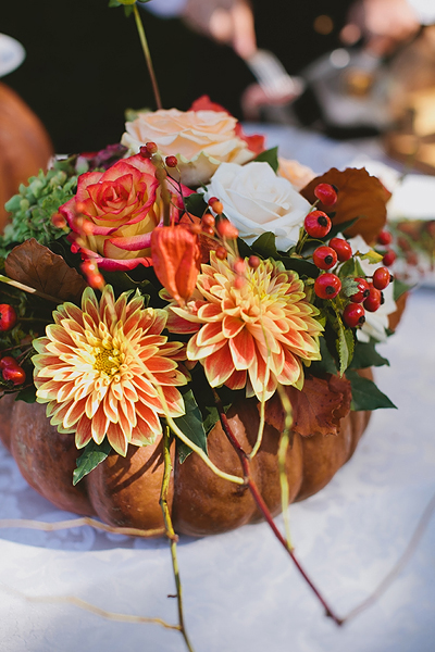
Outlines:
{"label": "blurred hand in the top right corner of the background", "polygon": [[346,45],[362,36],[368,50],[384,55],[410,40],[419,29],[420,22],[408,0],[359,0],[340,36]]}

